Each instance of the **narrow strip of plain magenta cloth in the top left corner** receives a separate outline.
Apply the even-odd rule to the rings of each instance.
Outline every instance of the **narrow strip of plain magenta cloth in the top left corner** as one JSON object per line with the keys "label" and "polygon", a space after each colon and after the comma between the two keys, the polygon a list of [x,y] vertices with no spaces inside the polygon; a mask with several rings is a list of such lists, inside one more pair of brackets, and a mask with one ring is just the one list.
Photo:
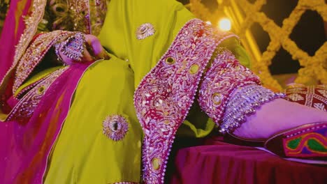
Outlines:
{"label": "narrow strip of plain magenta cloth in the top left corner", "polygon": [[[31,0],[27,0],[26,4],[22,0],[10,1],[9,10],[6,20],[3,24],[3,30],[0,38],[0,82],[4,75],[13,64],[15,54],[15,45],[17,45],[22,35],[25,24],[22,15],[27,15]],[[16,20],[17,17],[17,20]]]}

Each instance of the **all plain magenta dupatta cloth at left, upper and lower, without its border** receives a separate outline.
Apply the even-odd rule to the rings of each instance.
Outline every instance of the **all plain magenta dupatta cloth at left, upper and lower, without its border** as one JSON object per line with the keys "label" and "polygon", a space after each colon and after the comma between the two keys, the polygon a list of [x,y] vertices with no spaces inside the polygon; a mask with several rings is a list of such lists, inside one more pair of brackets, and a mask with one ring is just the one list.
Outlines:
{"label": "all plain magenta dupatta cloth at left, upper and lower, without its border", "polygon": [[[20,52],[17,51],[16,45],[20,45],[20,37],[28,29],[25,27],[23,17],[31,15],[29,12],[33,9],[31,6],[34,4],[35,8],[37,3],[38,0],[10,2],[10,10],[0,38],[1,81],[3,82],[3,78],[6,77],[0,89],[0,102],[7,102],[13,95],[13,71],[17,62],[17,52]],[[43,15],[40,10],[38,13]],[[29,41],[21,45],[28,44]],[[67,67],[50,84],[27,122],[0,121],[0,183],[43,183],[52,145],[68,114],[78,82],[90,64],[76,63]],[[12,72],[8,72],[10,69],[13,69]]]}

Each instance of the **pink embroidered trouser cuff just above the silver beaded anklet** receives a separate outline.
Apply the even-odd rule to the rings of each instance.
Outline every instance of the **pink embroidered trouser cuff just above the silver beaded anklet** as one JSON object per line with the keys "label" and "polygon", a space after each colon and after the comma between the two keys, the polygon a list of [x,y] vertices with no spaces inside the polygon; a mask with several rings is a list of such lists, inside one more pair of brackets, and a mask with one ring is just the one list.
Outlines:
{"label": "pink embroidered trouser cuff just above the silver beaded anklet", "polygon": [[[200,87],[198,102],[204,112],[221,124],[226,105],[234,91],[248,84],[260,84],[259,77],[242,66],[228,49],[219,48],[212,67],[205,74]],[[226,132],[221,128],[221,132]]]}

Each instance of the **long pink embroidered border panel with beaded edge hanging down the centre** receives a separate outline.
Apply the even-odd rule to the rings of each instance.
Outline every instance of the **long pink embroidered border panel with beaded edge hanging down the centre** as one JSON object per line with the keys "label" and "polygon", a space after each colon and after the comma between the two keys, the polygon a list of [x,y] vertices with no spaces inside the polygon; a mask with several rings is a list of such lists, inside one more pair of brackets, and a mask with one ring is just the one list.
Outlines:
{"label": "long pink embroidered border panel with beaded edge hanging down the centre", "polygon": [[157,66],[134,94],[143,127],[143,180],[163,183],[175,132],[186,118],[203,70],[217,45],[235,35],[219,32],[201,20],[191,20],[177,34]]}

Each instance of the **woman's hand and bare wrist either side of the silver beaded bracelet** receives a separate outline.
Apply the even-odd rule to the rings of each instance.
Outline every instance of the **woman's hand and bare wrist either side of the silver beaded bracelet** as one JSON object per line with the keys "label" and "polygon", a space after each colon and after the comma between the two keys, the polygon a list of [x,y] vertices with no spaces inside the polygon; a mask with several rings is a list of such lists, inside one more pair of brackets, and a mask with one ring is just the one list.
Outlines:
{"label": "woman's hand and bare wrist either side of the silver beaded bracelet", "polygon": [[74,62],[89,62],[96,61],[98,59],[109,59],[109,56],[106,54],[103,49],[100,41],[96,36],[93,35],[85,35],[86,47],[83,51],[83,56],[80,61],[75,61],[74,59],[69,58],[63,52],[59,51],[61,59],[67,65],[71,65]]}

